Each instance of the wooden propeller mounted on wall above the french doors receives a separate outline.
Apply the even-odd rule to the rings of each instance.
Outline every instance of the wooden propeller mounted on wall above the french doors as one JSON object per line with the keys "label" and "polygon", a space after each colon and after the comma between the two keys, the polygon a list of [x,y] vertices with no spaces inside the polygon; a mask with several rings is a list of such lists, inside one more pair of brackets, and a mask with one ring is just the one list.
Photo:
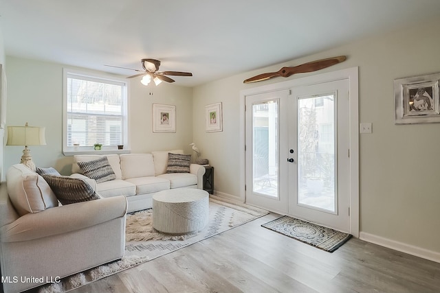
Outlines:
{"label": "wooden propeller mounted on wall above the french doors", "polygon": [[247,80],[244,80],[243,83],[250,84],[251,82],[261,82],[263,80],[268,80],[270,78],[276,78],[277,76],[288,78],[290,75],[295,73],[307,73],[307,72],[317,71],[320,69],[325,69],[327,67],[330,67],[331,65],[336,65],[339,62],[342,62],[346,59],[347,59],[346,56],[338,56],[333,58],[311,61],[294,67],[283,67],[282,69],[276,72],[268,72],[268,73],[261,73],[259,75],[255,75],[252,78],[248,78]]}

